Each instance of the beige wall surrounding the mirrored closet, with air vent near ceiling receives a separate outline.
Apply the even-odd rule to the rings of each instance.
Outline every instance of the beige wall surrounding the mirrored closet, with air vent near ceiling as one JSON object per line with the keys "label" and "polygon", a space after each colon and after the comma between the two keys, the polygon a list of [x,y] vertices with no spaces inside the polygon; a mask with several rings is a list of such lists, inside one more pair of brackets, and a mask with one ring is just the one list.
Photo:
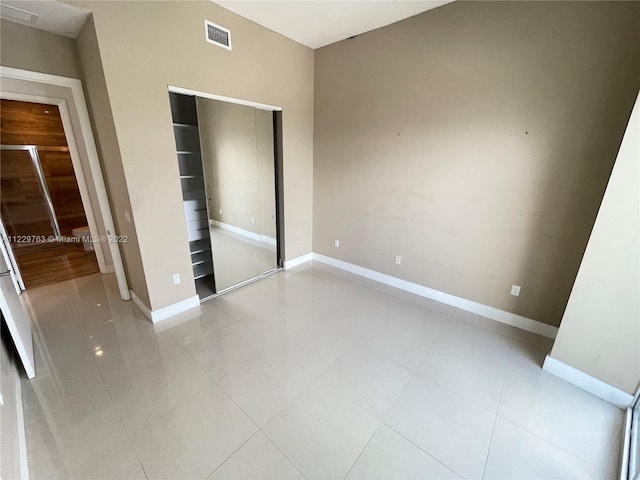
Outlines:
{"label": "beige wall surrounding the mirrored closet, with air vent near ceiling", "polygon": [[[195,294],[168,85],[283,108],[285,258],[309,252],[313,51],[207,1],[70,3],[93,13],[150,307]],[[205,18],[233,51],[205,42]]]}

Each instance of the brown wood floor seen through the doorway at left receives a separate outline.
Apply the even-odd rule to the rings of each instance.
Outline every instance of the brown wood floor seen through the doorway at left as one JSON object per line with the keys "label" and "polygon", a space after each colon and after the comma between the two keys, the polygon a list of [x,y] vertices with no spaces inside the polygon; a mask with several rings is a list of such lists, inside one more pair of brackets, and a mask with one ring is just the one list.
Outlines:
{"label": "brown wood floor seen through the doorway at left", "polygon": [[25,288],[39,287],[98,273],[95,252],[82,244],[37,244],[13,249]]}

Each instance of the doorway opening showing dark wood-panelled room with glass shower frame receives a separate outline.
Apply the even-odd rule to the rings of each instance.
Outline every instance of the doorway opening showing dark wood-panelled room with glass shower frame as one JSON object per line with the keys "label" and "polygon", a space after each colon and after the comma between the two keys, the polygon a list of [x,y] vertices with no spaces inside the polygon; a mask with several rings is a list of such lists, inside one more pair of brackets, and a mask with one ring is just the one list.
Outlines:
{"label": "doorway opening showing dark wood-panelled room with glass shower frame", "polygon": [[1,102],[0,210],[25,288],[98,273],[59,108]]}

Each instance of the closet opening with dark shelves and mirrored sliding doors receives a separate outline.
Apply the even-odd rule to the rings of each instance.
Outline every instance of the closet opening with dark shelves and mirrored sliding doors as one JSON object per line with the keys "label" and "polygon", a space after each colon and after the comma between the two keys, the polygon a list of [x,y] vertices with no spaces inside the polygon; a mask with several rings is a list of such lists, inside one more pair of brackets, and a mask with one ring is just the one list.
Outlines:
{"label": "closet opening with dark shelves and mirrored sliding doors", "polygon": [[200,298],[278,268],[274,112],[170,93]]}

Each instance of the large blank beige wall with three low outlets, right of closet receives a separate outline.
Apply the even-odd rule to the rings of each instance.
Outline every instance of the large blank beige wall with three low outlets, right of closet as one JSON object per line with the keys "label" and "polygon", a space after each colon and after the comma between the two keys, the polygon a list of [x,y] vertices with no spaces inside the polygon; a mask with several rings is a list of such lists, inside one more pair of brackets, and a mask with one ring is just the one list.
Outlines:
{"label": "large blank beige wall with three low outlets, right of closet", "polygon": [[455,2],[317,50],[313,251],[558,325],[639,22],[637,2]]}

